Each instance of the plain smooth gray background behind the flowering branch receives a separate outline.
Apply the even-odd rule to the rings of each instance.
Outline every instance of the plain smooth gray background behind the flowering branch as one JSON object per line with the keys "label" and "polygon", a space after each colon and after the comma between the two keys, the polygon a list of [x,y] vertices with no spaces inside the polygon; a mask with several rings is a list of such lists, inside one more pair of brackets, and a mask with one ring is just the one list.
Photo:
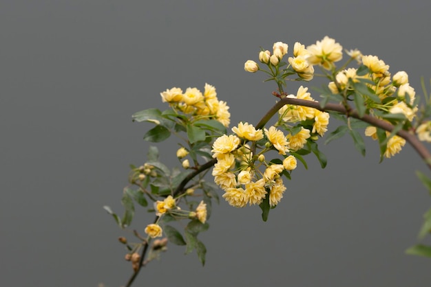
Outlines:
{"label": "plain smooth gray background behind the flowering branch", "polygon": [[[430,1],[8,1],[0,2],[0,285],[120,286],[132,273],[122,213],[129,163],[145,161],[160,91],[215,85],[232,125],[256,123],[275,99],[246,73],[260,47],[293,51],[328,35],[346,49],[405,70],[421,94],[430,74]],[[297,83],[290,87],[296,91]],[[318,98],[318,94],[313,93]],[[330,125],[333,130],[336,124]],[[425,286],[430,260],[404,255],[430,197],[406,146],[378,164],[351,139],[322,146],[328,167],[293,172],[269,221],[260,209],[214,207],[207,264],[169,246],[136,286]],[[167,146],[165,146],[167,147]],[[176,165],[174,149],[163,159]],[[137,211],[135,228],[153,215]]]}

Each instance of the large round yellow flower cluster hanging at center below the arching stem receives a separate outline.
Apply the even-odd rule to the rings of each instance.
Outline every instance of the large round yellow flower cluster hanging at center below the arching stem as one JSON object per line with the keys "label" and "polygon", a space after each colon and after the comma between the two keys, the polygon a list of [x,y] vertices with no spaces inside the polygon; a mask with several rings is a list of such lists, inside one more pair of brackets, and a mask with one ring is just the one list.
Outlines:
{"label": "large round yellow flower cluster hanging at center below the arching stem", "polygon": [[[247,204],[259,205],[269,195],[269,204],[277,205],[286,190],[281,179],[282,173],[290,172],[297,166],[295,157],[286,154],[289,151],[288,138],[274,126],[262,131],[251,124],[240,123],[232,131],[235,135],[218,137],[211,150],[217,159],[212,175],[215,183],[224,190],[222,197],[229,205],[244,207]],[[297,135],[298,141],[299,137],[306,138],[302,133]],[[253,146],[259,146],[257,141],[262,143],[262,139],[262,151],[254,156],[245,142],[253,141]],[[265,161],[264,152],[273,148],[284,155],[282,164]]]}

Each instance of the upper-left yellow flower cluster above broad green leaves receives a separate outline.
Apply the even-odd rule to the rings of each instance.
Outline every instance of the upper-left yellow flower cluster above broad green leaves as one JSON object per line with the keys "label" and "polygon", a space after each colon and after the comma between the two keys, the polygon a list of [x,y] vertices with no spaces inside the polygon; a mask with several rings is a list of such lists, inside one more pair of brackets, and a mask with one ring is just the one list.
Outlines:
{"label": "upper-left yellow flower cluster above broad green leaves", "polygon": [[216,119],[224,126],[229,126],[231,114],[229,106],[219,101],[215,87],[205,84],[204,93],[197,88],[187,88],[183,93],[180,88],[167,89],[160,93],[162,102],[168,102],[172,108],[187,115]]}

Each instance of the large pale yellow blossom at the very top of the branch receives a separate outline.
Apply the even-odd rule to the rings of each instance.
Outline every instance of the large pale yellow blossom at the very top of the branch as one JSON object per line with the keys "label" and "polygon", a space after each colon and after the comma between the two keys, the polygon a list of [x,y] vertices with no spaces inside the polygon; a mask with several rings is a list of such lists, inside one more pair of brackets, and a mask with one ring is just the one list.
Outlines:
{"label": "large pale yellow blossom at the very top of the branch", "polygon": [[322,41],[317,41],[314,45],[307,47],[310,56],[307,58],[311,65],[322,65],[325,69],[330,69],[333,62],[343,58],[343,47],[335,43],[333,38],[325,36]]}

